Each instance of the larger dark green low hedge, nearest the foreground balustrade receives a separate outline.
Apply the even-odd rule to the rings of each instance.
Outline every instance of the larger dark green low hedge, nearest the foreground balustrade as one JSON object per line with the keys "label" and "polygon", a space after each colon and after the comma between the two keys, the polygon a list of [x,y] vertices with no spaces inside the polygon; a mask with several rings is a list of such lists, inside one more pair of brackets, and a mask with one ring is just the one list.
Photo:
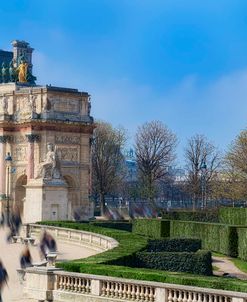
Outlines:
{"label": "larger dark green low hedge, nearest the foreground balustrade", "polygon": [[211,252],[208,251],[196,253],[139,252],[136,254],[135,266],[207,276],[213,274]]}

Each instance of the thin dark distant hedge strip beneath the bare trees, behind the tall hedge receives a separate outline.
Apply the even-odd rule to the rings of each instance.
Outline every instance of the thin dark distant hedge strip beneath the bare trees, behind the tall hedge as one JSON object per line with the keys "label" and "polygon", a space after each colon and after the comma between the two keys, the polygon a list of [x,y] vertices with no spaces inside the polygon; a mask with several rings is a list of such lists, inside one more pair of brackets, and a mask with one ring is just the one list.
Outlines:
{"label": "thin dark distant hedge strip beneath the bare trees, behind the tall hedge", "polygon": [[182,221],[200,221],[200,222],[219,222],[218,210],[207,211],[172,211],[162,215],[163,219],[167,220],[182,220]]}

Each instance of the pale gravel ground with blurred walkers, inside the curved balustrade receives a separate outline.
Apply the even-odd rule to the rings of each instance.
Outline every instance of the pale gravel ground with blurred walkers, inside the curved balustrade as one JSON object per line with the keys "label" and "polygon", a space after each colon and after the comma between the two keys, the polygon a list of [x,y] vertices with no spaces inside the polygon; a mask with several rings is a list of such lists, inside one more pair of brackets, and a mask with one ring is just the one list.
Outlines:
{"label": "pale gravel ground with blurred walkers, inside the curved balustrade", "polygon": [[[24,245],[21,243],[7,243],[6,242],[7,230],[0,229],[0,259],[3,261],[9,274],[8,286],[3,289],[3,302],[12,301],[32,301],[23,299],[22,286],[20,285],[16,269],[20,267],[19,257],[24,249]],[[71,245],[69,243],[63,243],[57,241],[58,246],[58,260],[72,260],[78,258],[86,258],[91,255],[97,254],[96,251],[86,247]],[[36,246],[30,247],[33,262],[40,262],[37,242]]]}

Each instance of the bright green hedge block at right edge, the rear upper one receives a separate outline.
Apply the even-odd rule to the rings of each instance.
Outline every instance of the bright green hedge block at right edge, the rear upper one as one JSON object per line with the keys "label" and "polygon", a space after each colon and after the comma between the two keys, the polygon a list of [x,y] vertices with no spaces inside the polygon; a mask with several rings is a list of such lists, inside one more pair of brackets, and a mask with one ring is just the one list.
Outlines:
{"label": "bright green hedge block at right edge, the rear upper one", "polygon": [[247,208],[220,208],[220,223],[247,226]]}

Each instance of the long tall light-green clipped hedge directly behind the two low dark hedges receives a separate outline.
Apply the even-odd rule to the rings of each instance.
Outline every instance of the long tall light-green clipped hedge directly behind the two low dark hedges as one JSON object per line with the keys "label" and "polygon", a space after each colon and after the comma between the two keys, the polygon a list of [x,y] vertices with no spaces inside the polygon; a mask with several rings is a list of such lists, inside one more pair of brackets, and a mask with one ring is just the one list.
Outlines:
{"label": "long tall light-green clipped hedge directly behind the two low dark hedges", "polygon": [[219,223],[204,223],[191,221],[171,221],[171,237],[197,238],[202,241],[202,248],[237,257],[238,242],[235,226]]}

